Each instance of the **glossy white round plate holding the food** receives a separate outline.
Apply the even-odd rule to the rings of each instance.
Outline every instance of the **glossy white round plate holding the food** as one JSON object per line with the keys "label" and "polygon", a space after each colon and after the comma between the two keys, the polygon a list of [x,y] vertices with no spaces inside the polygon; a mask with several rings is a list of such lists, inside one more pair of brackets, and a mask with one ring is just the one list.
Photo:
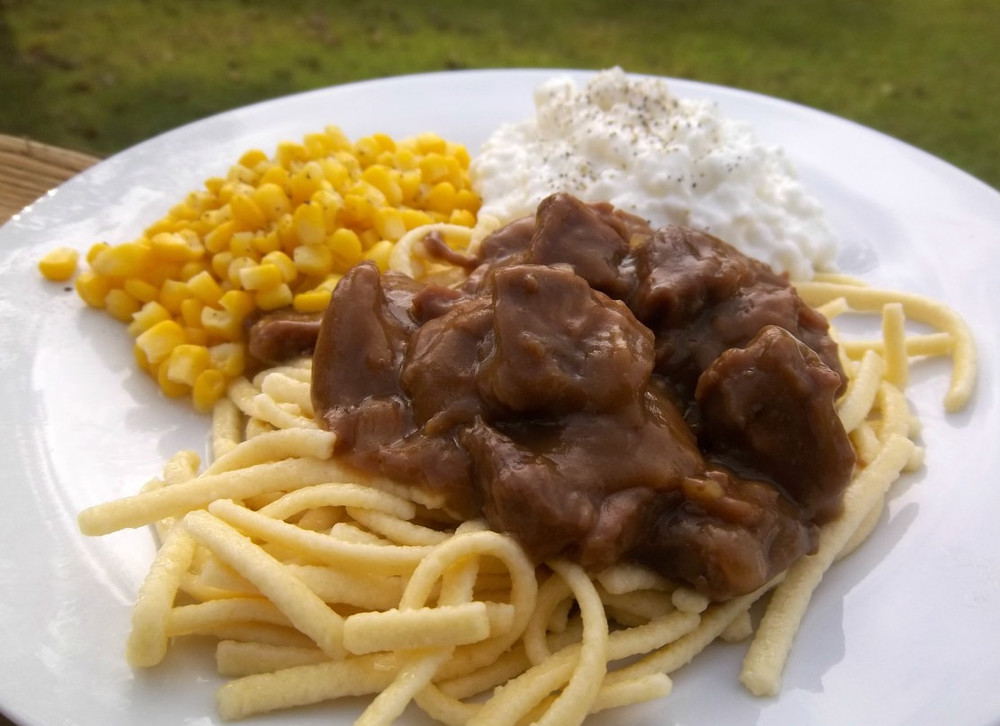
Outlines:
{"label": "glossy white round plate holding the food", "polygon": [[[210,652],[182,648],[133,673],[129,605],[153,553],[147,531],[86,539],[76,513],[132,493],[166,456],[204,444],[206,423],[135,372],[122,325],[43,281],[37,258],[136,236],[251,147],[271,151],[329,123],[353,138],[433,130],[474,151],[531,112],[555,71],[471,71],[330,88],[225,113],[98,164],[0,229],[0,708],[25,724],[208,724]],[[824,580],[781,695],[737,683],[744,646],[717,646],[670,698],[594,720],[615,724],[982,726],[1000,722],[1000,440],[996,286],[1000,195],[890,138],[790,103],[673,81],[717,99],[781,143],[827,205],[845,264],[872,282],[946,301],[971,324],[981,380],[946,416],[947,369],[916,376],[926,468],[894,490],[872,539]],[[935,375],[930,375],[931,373]],[[348,724],[360,702],[252,723]],[[407,712],[405,723],[426,719]]]}

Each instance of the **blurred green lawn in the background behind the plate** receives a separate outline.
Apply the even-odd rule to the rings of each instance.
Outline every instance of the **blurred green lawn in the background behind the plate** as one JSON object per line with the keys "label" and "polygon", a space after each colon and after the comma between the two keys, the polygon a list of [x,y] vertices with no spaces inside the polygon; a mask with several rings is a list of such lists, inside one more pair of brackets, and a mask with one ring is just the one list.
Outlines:
{"label": "blurred green lawn in the background behind the plate", "polygon": [[1000,188],[998,0],[0,0],[0,132],[106,155],[348,81],[612,65],[830,111]]}

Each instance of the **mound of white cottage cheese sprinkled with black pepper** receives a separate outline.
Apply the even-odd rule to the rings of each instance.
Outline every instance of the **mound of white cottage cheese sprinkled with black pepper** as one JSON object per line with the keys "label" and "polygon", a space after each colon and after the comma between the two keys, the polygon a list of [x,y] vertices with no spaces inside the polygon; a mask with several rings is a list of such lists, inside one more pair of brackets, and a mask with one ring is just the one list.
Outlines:
{"label": "mound of white cottage cheese sprinkled with black pepper", "polygon": [[534,100],[533,118],[499,128],[472,161],[481,217],[510,221],[565,191],[704,230],[792,279],[834,266],[836,238],[791,162],[714,103],[620,68],[583,88],[555,78]]}

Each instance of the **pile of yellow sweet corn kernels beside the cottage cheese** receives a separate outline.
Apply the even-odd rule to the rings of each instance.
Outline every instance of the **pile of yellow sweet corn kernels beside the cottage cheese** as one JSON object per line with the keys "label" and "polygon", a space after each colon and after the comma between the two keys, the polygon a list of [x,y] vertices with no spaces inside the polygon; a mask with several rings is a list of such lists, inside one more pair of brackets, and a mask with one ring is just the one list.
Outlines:
{"label": "pile of yellow sweet corn kernels beside the cottage cheese", "polygon": [[[80,297],[128,323],[135,358],[165,394],[206,411],[247,363],[244,321],[256,311],[321,312],[355,263],[386,269],[418,226],[476,223],[469,155],[434,134],[351,142],[336,127],[246,152],[136,240],[94,245]],[[50,279],[75,267],[52,253]],[[46,262],[43,259],[43,262]]]}

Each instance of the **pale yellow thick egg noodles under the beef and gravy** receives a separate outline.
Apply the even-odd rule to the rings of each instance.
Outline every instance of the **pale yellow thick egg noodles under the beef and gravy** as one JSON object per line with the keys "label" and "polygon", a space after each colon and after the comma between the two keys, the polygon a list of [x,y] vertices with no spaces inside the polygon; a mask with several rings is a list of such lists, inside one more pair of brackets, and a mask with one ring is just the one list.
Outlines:
{"label": "pale yellow thick egg noodles under the beef and gravy", "polygon": [[[424,255],[431,229],[463,244],[474,234],[416,230],[401,240],[396,269],[454,274]],[[449,726],[576,724],[666,696],[670,674],[717,639],[750,639],[740,680],[776,693],[823,574],[872,531],[900,474],[922,464],[904,396],[910,362],[953,359],[949,411],[971,396],[976,365],[964,323],[934,301],[835,276],[798,290],[834,321],[880,316],[882,335],[840,341],[850,383],[838,409],[859,459],[843,513],[821,528],[815,554],[764,588],[710,603],[635,565],[536,567],[485,522],[458,521],[427,493],[332,458],[334,435],[313,419],[302,360],[230,386],[213,413],[206,468],[182,451],[141,492],[80,514],[88,535],[152,525],[159,538],[132,610],[128,662],[155,666],[183,636],[216,639],[227,720],[373,696],[357,724],[391,723],[410,703]],[[908,318],[935,332],[908,332]],[[765,600],[755,628],[750,609]]]}

